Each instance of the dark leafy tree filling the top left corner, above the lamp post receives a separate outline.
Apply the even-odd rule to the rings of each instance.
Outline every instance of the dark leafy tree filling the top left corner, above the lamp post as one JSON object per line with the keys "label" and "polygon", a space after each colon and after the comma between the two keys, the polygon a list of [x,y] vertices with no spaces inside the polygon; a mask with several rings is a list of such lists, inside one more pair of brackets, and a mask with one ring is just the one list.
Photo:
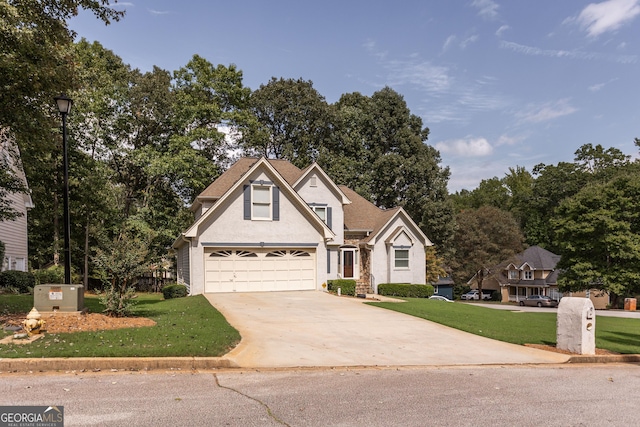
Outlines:
{"label": "dark leafy tree filling the top left corner, above the lamp post", "polygon": [[[67,21],[79,9],[105,24],[118,21],[109,0],[6,0],[0,2],[0,128],[8,127],[19,143],[50,136],[53,96],[70,92],[74,33]],[[22,148],[22,147],[21,147]]]}

